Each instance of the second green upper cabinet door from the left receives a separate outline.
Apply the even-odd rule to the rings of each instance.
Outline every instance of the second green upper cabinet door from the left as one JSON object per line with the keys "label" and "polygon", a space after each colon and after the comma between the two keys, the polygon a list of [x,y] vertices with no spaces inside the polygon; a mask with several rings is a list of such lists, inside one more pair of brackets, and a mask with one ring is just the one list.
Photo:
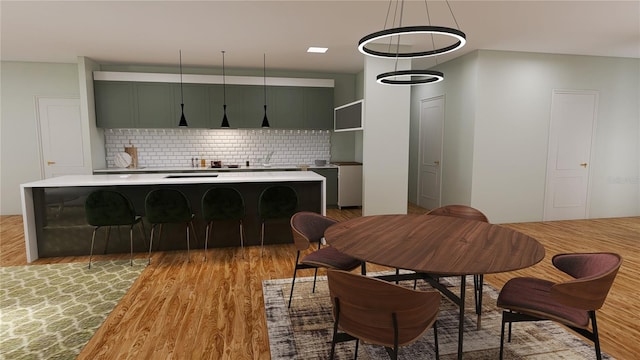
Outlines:
{"label": "second green upper cabinet door from the left", "polygon": [[[180,117],[175,117],[174,115],[171,85],[166,83],[135,84],[138,103],[137,127],[172,128],[178,126]],[[180,107],[180,104],[178,104],[178,107]]]}

